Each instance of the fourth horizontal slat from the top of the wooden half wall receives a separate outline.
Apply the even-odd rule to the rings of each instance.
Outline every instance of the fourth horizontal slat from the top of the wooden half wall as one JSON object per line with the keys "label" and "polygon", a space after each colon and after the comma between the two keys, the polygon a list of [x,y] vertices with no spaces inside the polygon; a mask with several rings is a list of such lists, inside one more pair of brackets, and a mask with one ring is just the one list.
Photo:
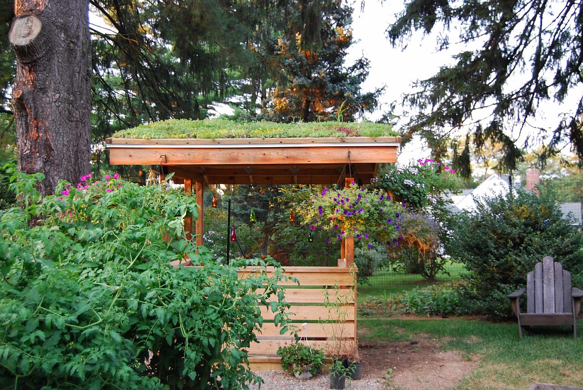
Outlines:
{"label": "fourth horizontal slat from the top of the wooden half wall", "polygon": [[345,322],[343,324],[308,324],[305,327],[305,331],[301,328],[301,324],[290,324],[290,331],[286,332],[285,335],[280,335],[279,331],[281,328],[275,326],[275,324],[264,323],[261,326],[261,333],[257,333],[258,337],[262,338],[276,338],[281,336],[293,336],[294,329],[297,330],[298,337],[331,337],[337,336],[338,338],[354,338],[356,337],[356,325],[354,322]]}

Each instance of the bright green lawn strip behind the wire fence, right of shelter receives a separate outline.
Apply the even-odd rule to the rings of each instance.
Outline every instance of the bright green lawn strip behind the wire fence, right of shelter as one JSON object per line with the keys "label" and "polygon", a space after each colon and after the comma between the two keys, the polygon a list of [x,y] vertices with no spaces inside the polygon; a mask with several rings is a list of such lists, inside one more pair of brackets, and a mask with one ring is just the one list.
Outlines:
{"label": "bright green lawn strip behind the wire fence, right of shelter", "polygon": [[410,291],[415,287],[431,286],[432,284],[457,282],[461,280],[460,273],[464,271],[463,265],[449,262],[445,265],[449,272],[439,273],[437,280],[429,282],[419,274],[394,272],[388,269],[379,269],[374,275],[368,278],[367,284],[359,284],[357,293],[360,297],[384,297],[388,294],[399,293],[401,291]]}

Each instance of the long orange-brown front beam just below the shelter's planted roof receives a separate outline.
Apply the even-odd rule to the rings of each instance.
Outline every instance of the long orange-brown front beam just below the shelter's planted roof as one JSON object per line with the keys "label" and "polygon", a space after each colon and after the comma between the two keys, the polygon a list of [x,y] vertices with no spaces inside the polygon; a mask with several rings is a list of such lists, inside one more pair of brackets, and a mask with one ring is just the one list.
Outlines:
{"label": "long orange-brown front beam just below the shelter's planted roof", "polygon": [[110,149],[110,164],[217,165],[232,164],[345,164],[348,152],[353,164],[396,163],[396,146],[335,147],[248,147],[248,148],[164,148],[115,147]]}

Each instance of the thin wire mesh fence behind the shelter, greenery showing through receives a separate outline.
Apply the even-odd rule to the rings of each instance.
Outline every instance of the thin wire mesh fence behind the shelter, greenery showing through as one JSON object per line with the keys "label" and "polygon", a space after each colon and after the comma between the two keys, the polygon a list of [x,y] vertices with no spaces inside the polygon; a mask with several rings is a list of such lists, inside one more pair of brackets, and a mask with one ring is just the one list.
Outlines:
{"label": "thin wire mesh fence behind the shelter, greenery showing through", "polygon": [[[219,197],[212,208],[212,194],[205,196],[204,241],[215,258],[226,259],[228,200],[231,199],[231,226],[238,243],[231,241],[230,258],[265,258],[271,256],[284,266],[336,266],[340,257],[340,241],[333,233],[311,231],[300,223],[297,200],[287,197],[279,187],[251,188],[239,186],[237,192]],[[443,261],[434,280],[424,277],[423,262],[413,255],[408,261],[395,258],[385,245],[356,240],[354,257],[359,267],[359,294],[382,296],[416,286],[460,280],[463,266]]]}

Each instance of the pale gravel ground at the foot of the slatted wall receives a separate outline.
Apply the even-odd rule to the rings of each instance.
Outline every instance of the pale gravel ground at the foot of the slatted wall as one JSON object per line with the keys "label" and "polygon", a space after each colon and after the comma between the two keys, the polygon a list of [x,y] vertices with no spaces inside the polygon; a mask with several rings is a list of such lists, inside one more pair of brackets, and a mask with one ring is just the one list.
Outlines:
{"label": "pale gravel ground at the foot of the slatted wall", "polygon": [[[321,390],[330,388],[330,375],[319,374],[310,379],[298,379],[283,371],[261,371],[255,373],[263,378],[265,383],[261,390]],[[346,389],[354,390],[383,390],[384,385],[382,378],[370,378],[365,374],[364,378],[359,381],[346,381]],[[258,389],[257,386],[251,385],[250,389]]]}

